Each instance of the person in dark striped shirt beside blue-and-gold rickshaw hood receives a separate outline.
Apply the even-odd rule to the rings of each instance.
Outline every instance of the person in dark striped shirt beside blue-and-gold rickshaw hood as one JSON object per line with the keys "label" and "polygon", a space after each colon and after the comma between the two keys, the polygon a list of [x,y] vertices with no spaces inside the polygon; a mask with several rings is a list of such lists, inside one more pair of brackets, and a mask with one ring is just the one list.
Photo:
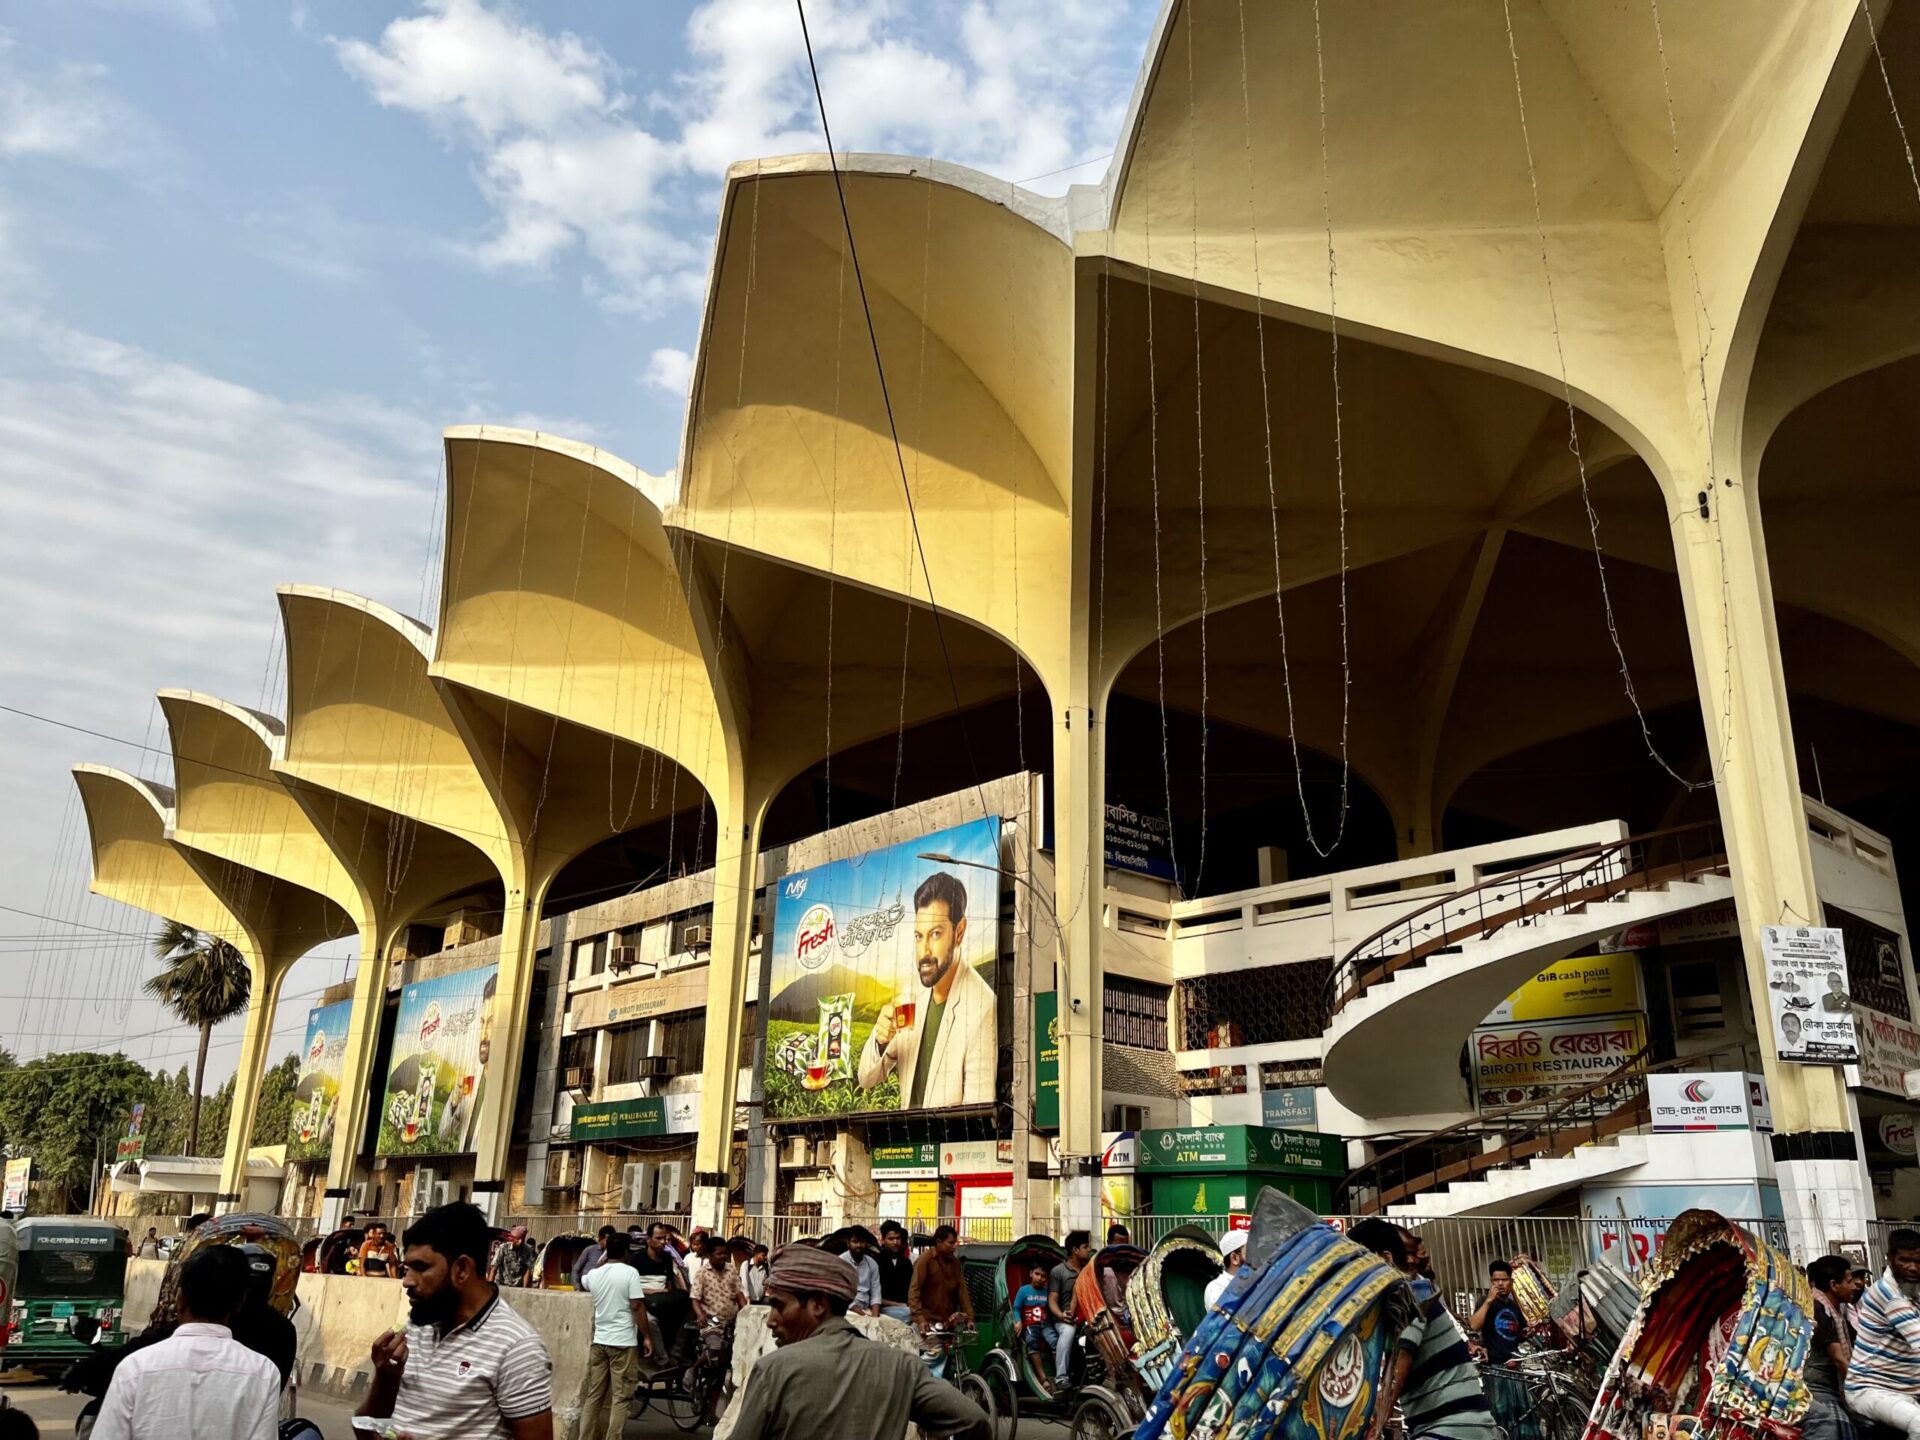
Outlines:
{"label": "person in dark striped shirt beside blue-and-gold rickshaw hood", "polygon": [[1413,1267],[1413,1236],[1384,1219],[1363,1219],[1348,1231],[1348,1238],[1405,1275],[1415,1304],[1413,1321],[1400,1332],[1380,1404],[1373,1407],[1367,1440],[1379,1440],[1396,1400],[1409,1440],[1503,1440],[1459,1321],[1442,1304],[1434,1283]]}

